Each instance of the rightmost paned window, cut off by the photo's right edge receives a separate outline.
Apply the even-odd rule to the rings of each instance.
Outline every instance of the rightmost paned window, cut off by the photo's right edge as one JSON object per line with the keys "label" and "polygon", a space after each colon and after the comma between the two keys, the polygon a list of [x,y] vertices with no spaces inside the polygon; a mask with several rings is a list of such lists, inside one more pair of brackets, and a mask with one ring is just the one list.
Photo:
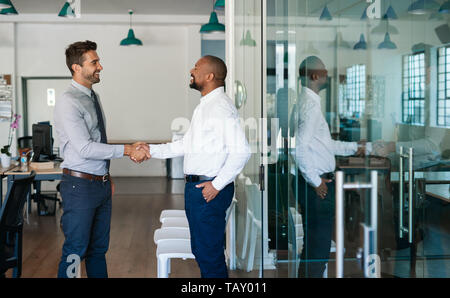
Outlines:
{"label": "rightmost paned window, cut off by the photo's right edge", "polygon": [[438,50],[438,126],[450,126],[450,46]]}

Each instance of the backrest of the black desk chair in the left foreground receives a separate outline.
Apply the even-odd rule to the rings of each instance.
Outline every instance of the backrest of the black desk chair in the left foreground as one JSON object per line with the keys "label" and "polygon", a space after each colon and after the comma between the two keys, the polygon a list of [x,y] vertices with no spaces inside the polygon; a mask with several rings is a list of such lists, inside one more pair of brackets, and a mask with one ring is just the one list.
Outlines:
{"label": "backrest of the black desk chair in the left foreground", "polygon": [[0,229],[16,228],[23,224],[23,208],[35,176],[32,171],[30,176],[14,180],[0,213]]}

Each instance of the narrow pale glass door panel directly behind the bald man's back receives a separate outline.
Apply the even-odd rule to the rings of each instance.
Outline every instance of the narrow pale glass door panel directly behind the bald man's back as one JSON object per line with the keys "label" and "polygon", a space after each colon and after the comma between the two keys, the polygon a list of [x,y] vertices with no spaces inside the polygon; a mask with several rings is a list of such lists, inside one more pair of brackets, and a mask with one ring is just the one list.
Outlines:
{"label": "narrow pale glass door panel directly behind the bald man's back", "polygon": [[273,261],[268,247],[266,179],[262,168],[265,158],[262,140],[266,135],[261,119],[265,108],[262,99],[265,94],[262,75],[264,1],[233,1],[227,5],[233,14],[229,29],[233,39],[228,48],[232,52],[228,86],[233,89],[227,92],[232,93],[252,152],[236,179],[236,265],[245,272],[243,276],[265,277],[264,270],[273,268]]}

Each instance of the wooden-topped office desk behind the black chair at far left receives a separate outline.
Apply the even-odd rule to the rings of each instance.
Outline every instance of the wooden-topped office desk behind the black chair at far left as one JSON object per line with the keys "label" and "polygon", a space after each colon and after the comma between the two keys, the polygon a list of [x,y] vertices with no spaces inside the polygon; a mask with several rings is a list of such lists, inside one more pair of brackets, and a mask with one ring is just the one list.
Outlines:
{"label": "wooden-topped office desk behind the black chair at far left", "polygon": [[[36,172],[36,176],[34,181],[38,181],[36,192],[40,193],[40,182],[41,181],[52,181],[52,180],[61,180],[62,177],[62,169],[59,167],[60,163],[55,162],[55,166],[53,169],[33,169],[29,168],[26,172],[21,172],[20,168],[16,166],[13,169],[5,172],[4,175],[8,177],[8,190],[6,195],[11,191],[11,187],[13,185],[14,180],[20,179],[23,176],[27,176],[31,174],[31,171],[34,170]],[[31,210],[31,201],[28,199],[28,210]]]}

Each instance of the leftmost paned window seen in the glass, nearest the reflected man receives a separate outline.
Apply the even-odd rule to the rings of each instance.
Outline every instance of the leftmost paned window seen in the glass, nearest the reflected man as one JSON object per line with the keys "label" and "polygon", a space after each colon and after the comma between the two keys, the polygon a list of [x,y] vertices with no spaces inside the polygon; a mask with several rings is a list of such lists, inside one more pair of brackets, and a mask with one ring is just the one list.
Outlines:
{"label": "leftmost paned window seen in the glass, nearest the reflected man", "polygon": [[364,113],[366,98],[366,66],[347,68],[346,83],[339,86],[341,116],[360,118]]}

